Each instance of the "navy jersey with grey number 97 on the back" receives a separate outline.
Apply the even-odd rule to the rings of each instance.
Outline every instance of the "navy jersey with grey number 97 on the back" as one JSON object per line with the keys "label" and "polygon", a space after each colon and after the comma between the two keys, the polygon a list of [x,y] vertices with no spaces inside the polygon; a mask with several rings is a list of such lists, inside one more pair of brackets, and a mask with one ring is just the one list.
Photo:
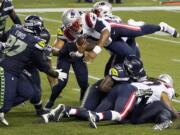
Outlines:
{"label": "navy jersey with grey number 97 on the back", "polygon": [[0,62],[5,71],[18,76],[29,63],[33,63],[43,72],[50,70],[43,57],[46,47],[44,40],[30,34],[28,29],[21,25],[12,26],[8,35],[5,57]]}

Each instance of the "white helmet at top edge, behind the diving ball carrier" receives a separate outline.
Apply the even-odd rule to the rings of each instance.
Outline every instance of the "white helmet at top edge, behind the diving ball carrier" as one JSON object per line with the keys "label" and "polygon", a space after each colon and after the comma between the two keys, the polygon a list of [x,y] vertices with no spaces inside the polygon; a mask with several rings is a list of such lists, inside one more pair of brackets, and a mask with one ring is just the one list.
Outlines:
{"label": "white helmet at top edge, behind the diving ball carrier", "polygon": [[112,5],[106,1],[99,1],[93,5],[92,12],[94,12],[98,17],[103,17],[107,14],[112,14]]}

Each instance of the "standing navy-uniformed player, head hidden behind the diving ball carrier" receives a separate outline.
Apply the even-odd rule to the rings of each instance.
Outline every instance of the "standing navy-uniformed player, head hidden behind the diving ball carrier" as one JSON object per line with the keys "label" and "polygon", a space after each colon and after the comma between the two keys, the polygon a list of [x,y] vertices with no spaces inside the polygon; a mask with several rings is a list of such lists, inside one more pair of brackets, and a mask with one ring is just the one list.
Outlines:
{"label": "standing navy-uniformed player, head hidden behind the diving ball carrier", "polygon": [[[53,54],[58,56],[57,69],[63,69],[69,75],[70,66],[72,66],[77,82],[80,87],[80,100],[82,100],[84,93],[88,87],[88,69],[83,60],[83,55],[77,54],[77,47],[75,43],[68,43],[64,37],[63,26],[58,29],[57,39],[54,42]],[[50,110],[68,82],[68,78],[64,81],[58,80],[53,89],[49,101],[45,105],[46,110]]]}

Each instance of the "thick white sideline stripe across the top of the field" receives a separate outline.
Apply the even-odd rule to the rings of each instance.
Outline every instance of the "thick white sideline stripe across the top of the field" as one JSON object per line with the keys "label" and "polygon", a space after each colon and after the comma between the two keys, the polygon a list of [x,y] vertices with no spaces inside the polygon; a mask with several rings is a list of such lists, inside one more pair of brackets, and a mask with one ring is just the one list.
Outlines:
{"label": "thick white sideline stripe across the top of the field", "polygon": [[[29,8],[29,9],[15,9],[17,13],[32,13],[32,12],[64,12],[69,8]],[[90,11],[91,8],[75,8],[81,11]],[[152,11],[152,10],[163,10],[172,11],[180,10],[180,6],[148,6],[148,7],[113,7],[112,11]]]}

